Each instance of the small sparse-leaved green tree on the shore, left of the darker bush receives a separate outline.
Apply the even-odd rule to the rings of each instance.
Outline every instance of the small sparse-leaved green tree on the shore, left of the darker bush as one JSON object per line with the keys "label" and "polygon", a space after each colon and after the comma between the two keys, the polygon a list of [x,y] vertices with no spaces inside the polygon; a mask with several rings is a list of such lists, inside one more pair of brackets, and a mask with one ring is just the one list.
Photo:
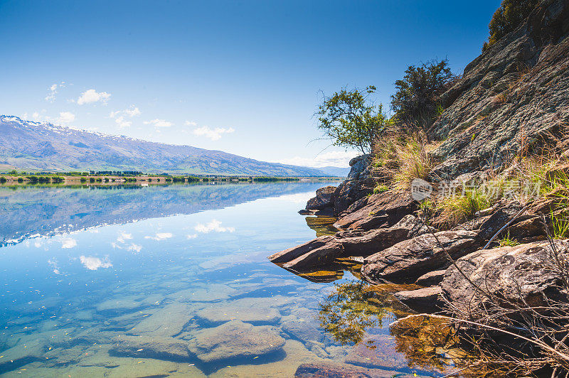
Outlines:
{"label": "small sparse-leaved green tree on the shore, left of the darker bush", "polygon": [[373,141],[389,124],[382,104],[376,105],[369,98],[376,87],[365,90],[346,90],[324,96],[324,102],[315,114],[318,128],[333,141],[334,146],[357,148],[362,153],[371,153]]}

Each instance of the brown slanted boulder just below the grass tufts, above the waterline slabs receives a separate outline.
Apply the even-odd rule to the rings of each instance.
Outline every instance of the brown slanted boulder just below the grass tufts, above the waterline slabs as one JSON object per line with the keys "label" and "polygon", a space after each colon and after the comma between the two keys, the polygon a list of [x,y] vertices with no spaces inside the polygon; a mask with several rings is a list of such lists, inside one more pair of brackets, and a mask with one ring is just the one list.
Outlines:
{"label": "brown slanted boulder just below the grass tufts, above the waterline slabs", "polygon": [[[410,192],[391,191],[373,194],[359,202],[360,207],[341,216],[334,223],[338,229],[374,229],[390,227],[405,215],[418,210],[418,202],[411,198]],[[354,204],[355,205],[355,204]]]}

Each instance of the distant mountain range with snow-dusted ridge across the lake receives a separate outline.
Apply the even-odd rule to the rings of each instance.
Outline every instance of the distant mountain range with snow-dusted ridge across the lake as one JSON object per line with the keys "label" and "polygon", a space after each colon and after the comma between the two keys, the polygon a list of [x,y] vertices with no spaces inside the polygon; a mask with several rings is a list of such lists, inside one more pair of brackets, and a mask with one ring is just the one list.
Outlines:
{"label": "distant mountain range with snow-dusted ridge across the lake", "polygon": [[267,163],[223,151],[110,136],[0,116],[0,167],[41,171],[144,171],[323,176],[317,168]]}

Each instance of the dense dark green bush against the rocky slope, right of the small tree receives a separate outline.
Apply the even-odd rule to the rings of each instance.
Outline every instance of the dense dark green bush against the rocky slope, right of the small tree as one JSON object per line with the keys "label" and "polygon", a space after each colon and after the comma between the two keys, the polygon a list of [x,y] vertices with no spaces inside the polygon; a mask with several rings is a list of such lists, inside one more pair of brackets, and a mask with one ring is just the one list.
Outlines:
{"label": "dense dark green bush against the rocky slope, right of the small tree", "polygon": [[440,95],[450,87],[453,78],[447,59],[410,65],[403,80],[395,82],[395,95],[391,96],[395,117],[415,129],[430,126],[444,109]]}

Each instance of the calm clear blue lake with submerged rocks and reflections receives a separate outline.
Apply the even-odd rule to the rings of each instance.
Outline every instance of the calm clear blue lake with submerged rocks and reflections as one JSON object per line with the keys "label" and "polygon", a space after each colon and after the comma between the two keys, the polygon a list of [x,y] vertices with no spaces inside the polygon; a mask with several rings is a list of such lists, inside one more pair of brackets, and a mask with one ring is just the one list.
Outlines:
{"label": "calm clear blue lake with submerged rocks and reflections", "polygon": [[452,362],[390,329],[405,310],[353,261],[297,276],[267,260],[330,232],[297,213],[325,185],[0,188],[0,374],[444,375]]}

